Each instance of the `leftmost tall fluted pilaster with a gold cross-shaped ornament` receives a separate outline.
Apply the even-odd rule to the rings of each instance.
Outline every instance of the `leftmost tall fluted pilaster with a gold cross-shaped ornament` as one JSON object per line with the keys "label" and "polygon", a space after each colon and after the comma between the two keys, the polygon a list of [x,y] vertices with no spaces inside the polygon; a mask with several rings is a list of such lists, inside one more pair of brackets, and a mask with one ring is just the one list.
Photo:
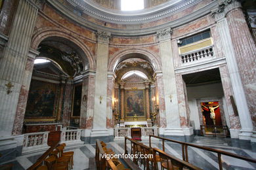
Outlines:
{"label": "leftmost tall fluted pilaster with a gold cross-shaped ornament", "polygon": [[31,1],[19,1],[0,60],[0,134],[3,136],[12,134],[38,8]]}

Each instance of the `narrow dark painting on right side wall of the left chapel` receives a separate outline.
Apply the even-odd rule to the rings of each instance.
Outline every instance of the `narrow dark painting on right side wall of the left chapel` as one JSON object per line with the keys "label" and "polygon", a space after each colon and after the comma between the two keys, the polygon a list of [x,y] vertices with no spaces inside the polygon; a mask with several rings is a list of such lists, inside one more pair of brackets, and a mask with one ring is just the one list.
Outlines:
{"label": "narrow dark painting on right side wall of the left chapel", "polygon": [[72,118],[80,117],[82,84],[75,84],[72,98]]}

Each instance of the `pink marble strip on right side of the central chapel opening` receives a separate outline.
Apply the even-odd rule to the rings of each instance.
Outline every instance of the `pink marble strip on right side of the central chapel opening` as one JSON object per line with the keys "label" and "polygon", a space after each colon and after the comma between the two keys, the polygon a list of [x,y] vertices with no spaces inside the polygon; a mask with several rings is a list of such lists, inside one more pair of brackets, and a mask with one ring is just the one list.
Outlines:
{"label": "pink marble strip on right side of the central chapel opening", "polygon": [[166,116],[165,116],[165,95],[164,95],[164,87],[163,87],[163,76],[156,75],[156,83],[158,90],[158,105],[159,105],[159,114],[158,114],[158,126],[166,127]]}

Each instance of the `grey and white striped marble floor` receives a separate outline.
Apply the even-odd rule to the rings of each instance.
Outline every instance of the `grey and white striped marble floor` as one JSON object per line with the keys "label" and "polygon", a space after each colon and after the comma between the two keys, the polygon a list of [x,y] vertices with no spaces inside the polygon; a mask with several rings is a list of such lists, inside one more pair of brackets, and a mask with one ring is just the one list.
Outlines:
{"label": "grey and white striped marble floor", "polygon": [[[256,147],[249,143],[230,140],[224,137],[198,137],[196,136],[192,141],[194,144],[201,146],[209,146],[219,150],[224,150],[248,158],[256,158]],[[110,142],[108,147],[112,148],[116,154],[124,153],[124,142]],[[148,143],[144,143],[148,145]],[[161,142],[155,142],[152,147],[162,148]],[[128,150],[131,145],[128,144]],[[66,148],[65,150],[74,151],[74,169],[95,169],[95,144],[83,144],[83,146],[76,146],[73,148]],[[182,159],[181,145],[176,143],[165,143],[165,152]],[[27,169],[32,163],[43,154],[37,152],[36,154],[27,154],[16,158],[13,161],[13,169]],[[219,169],[217,161],[217,154],[200,150],[198,148],[188,146],[188,160],[190,163],[202,169]],[[228,156],[222,156],[223,169],[256,169],[256,163],[250,163]]]}

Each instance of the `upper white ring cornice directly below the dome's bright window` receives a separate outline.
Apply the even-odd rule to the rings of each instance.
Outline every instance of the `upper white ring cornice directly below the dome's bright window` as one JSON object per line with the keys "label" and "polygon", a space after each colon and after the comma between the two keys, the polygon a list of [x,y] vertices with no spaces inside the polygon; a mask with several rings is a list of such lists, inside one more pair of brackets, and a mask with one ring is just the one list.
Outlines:
{"label": "upper white ring cornice directly below the dome's bright window", "polygon": [[146,22],[152,22],[160,20],[167,16],[171,16],[181,10],[184,10],[202,0],[188,0],[185,3],[181,0],[173,0],[157,7],[138,10],[133,12],[125,12],[121,10],[111,10],[96,5],[91,1],[80,0],[66,0],[72,4],[75,8],[83,10],[85,14],[103,20],[105,22],[111,22],[115,24],[142,24]]}

